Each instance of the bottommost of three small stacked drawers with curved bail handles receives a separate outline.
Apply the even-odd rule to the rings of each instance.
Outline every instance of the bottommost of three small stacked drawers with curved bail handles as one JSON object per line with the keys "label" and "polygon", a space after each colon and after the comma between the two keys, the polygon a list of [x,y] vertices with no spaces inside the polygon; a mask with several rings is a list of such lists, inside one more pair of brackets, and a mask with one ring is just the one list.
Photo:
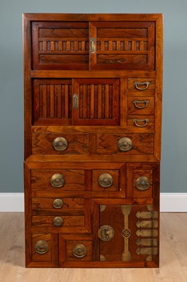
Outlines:
{"label": "bottommost of three small stacked drawers with curved bail handles", "polygon": [[147,126],[155,125],[155,116],[128,116],[127,126],[134,126],[136,128],[146,128]]}

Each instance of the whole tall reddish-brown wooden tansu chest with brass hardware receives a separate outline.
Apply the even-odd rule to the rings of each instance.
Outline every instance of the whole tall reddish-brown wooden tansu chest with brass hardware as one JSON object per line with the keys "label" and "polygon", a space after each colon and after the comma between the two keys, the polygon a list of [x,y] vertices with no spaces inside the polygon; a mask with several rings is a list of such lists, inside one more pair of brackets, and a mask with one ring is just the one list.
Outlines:
{"label": "whole tall reddish-brown wooden tansu chest with brass hardware", "polygon": [[161,14],[23,15],[27,267],[159,266]]}

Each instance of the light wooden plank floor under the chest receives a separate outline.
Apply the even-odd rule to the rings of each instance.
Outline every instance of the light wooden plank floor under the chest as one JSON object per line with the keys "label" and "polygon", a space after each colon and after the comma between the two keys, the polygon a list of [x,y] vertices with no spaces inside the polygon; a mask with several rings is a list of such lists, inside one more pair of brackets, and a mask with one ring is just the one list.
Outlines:
{"label": "light wooden plank floor under the chest", "polygon": [[0,213],[1,282],[187,282],[187,213],[162,213],[160,269],[25,269],[23,213]]}

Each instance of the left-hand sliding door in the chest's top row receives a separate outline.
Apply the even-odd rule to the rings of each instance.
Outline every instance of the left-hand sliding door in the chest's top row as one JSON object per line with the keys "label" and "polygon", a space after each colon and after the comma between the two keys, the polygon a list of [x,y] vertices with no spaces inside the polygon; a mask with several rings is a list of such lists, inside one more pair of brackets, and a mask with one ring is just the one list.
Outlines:
{"label": "left-hand sliding door in the chest's top row", "polygon": [[89,23],[32,23],[34,69],[88,69]]}

